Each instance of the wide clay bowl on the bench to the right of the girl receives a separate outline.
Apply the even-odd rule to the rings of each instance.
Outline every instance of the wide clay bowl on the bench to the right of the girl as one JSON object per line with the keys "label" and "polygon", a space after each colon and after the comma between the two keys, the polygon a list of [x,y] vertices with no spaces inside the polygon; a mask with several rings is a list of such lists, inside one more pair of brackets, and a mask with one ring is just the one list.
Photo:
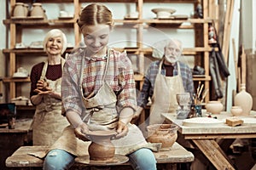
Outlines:
{"label": "wide clay bowl on the bench to the right of the girl", "polygon": [[161,143],[160,150],[171,150],[177,140],[177,126],[174,124],[154,124],[147,127],[148,142]]}

